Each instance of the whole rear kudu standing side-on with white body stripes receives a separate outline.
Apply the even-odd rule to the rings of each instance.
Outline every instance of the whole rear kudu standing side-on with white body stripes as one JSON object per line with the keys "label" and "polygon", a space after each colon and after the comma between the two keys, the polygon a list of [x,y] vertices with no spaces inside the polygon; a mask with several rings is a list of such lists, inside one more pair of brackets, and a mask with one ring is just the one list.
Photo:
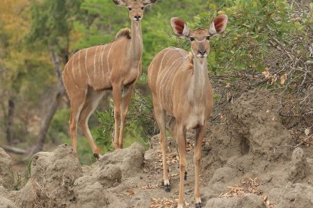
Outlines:
{"label": "whole rear kudu standing side-on with white body stripes", "polygon": [[[122,148],[129,101],[136,80],[141,75],[143,10],[145,6],[156,1],[113,0],[116,5],[128,8],[131,31],[128,28],[122,29],[113,42],[78,51],[65,65],[63,83],[70,98],[70,135],[75,153],[77,153],[77,123],[79,123],[95,157],[99,159],[100,149],[90,134],[88,119],[97,108],[102,96],[110,92],[113,92],[114,103],[114,146]],[[118,132],[119,125],[120,132]]]}

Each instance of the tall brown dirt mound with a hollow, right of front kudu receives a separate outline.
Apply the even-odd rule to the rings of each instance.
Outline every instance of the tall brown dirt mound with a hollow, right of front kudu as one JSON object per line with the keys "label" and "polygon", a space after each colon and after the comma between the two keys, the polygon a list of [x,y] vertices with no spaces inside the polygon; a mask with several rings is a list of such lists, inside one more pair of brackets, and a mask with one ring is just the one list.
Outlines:
{"label": "tall brown dirt mound with a hollow, right of front kudu", "polygon": [[[253,90],[242,94],[230,107],[227,121],[214,129],[209,143],[211,151],[202,160],[203,175],[211,192],[225,193],[229,191],[225,187],[239,184],[243,178],[257,177],[259,195],[284,207],[281,197],[272,200],[275,198],[273,193],[269,194],[272,190],[279,189],[281,193],[288,182],[302,182],[307,189],[312,188],[307,185],[312,183],[312,169],[307,163],[312,155],[305,154],[301,148],[292,148],[291,135],[275,113],[277,104],[278,101],[267,91]],[[298,201],[296,207],[307,206],[307,203],[300,202],[303,199],[300,195],[294,197]],[[218,204],[220,201],[208,202],[212,205],[212,202]],[[240,201],[232,198],[223,205],[238,207]],[[309,205],[313,206],[313,203]]]}

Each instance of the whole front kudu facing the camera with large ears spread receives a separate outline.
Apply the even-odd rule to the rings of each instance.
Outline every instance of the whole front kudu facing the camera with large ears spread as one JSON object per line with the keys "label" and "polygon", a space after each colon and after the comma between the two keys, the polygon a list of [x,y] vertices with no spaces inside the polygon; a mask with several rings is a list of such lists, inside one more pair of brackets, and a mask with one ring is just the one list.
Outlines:
{"label": "whole front kudu facing the camera with large ears spread", "polygon": [[186,131],[195,129],[195,207],[201,207],[200,159],[202,140],[207,119],[211,116],[213,91],[208,77],[207,54],[209,38],[223,33],[227,16],[219,15],[209,30],[189,30],[187,24],[177,17],[170,20],[175,35],[191,42],[191,53],[183,49],[163,49],[152,60],[148,69],[148,84],[152,91],[154,114],[160,130],[163,157],[163,180],[165,191],[170,191],[166,164],[166,113],[172,116],[170,130],[179,148],[179,200],[183,207],[184,179],[186,179]]}

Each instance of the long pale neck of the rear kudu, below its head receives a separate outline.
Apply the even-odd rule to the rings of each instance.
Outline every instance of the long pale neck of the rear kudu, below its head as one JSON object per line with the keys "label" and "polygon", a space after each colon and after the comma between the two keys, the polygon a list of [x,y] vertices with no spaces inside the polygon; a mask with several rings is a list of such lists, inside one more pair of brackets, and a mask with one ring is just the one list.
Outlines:
{"label": "long pale neck of the rear kudu, below its head", "polygon": [[131,44],[129,56],[132,60],[140,60],[143,56],[143,33],[141,31],[141,21],[131,20]]}

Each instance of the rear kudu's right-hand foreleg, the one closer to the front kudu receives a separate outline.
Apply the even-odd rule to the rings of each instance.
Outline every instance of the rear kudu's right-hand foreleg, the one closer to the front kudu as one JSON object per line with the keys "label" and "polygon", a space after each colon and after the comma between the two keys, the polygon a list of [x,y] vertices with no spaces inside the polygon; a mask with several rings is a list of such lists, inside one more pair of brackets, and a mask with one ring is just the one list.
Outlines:
{"label": "rear kudu's right-hand foreleg, the one closer to the front kudu", "polygon": [[120,135],[118,139],[119,144],[118,148],[123,148],[123,132],[127,120],[129,102],[131,101],[131,95],[133,94],[134,87],[135,85],[131,85],[130,87],[124,89],[124,92],[122,94],[122,103],[120,105],[121,120],[120,120]]}

